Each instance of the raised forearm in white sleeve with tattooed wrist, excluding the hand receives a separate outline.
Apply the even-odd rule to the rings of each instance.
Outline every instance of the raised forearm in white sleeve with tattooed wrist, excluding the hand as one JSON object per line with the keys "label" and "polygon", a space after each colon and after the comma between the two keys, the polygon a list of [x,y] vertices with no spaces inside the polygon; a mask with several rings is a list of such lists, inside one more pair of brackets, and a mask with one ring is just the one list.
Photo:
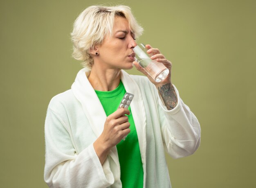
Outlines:
{"label": "raised forearm in white sleeve with tattooed wrist, excluding the hand", "polygon": [[[163,103],[159,101],[159,110],[162,112],[159,113],[159,118],[163,142],[168,153],[174,158],[191,155],[200,144],[200,125],[197,118],[183,103],[174,85],[171,83],[158,85],[157,89],[163,98]],[[173,97],[169,96],[170,93]],[[168,111],[162,108],[167,103],[175,104],[171,107],[169,105],[167,109],[175,109]]]}

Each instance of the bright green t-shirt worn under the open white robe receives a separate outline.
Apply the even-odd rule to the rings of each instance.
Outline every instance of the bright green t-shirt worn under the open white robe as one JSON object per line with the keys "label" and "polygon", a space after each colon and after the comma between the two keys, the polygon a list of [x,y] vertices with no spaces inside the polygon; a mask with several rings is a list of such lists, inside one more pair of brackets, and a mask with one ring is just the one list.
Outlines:
{"label": "bright green t-shirt worn under the open white robe", "polygon": [[[107,92],[95,90],[95,92],[101,101],[106,115],[109,116],[117,110],[126,90],[123,83],[120,81],[119,86],[115,90]],[[121,142],[117,144],[121,168],[121,182],[123,188],[143,188],[143,168],[139,151],[139,141],[132,118],[132,111],[130,107],[128,109],[130,111],[128,118],[131,131],[125,140],[121,140]]]}

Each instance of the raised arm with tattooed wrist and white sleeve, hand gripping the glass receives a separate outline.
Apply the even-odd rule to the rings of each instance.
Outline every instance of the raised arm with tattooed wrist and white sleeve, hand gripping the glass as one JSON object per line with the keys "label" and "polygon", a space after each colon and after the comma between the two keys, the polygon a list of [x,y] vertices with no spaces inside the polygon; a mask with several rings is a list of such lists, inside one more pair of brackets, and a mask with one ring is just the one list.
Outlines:
{"label": "raised arm with tattooed wrist and white sleeve, hand gripping the glass", "polygon": [[149,54],[154,54],[151,59],[163,63],[169,70],[169,74],[163,81],[155,82],[137,62],[134,62],[137,70],[144,73],[153,85],[157,96],[157,108],[162,132],[162,139],[166,151],[173,158],[184,157],[193,154],[200,144],[200,125],[195,115],[181,100],[175,86],[171,83],[172,63],[168,61],[157,48],[146,45]]}

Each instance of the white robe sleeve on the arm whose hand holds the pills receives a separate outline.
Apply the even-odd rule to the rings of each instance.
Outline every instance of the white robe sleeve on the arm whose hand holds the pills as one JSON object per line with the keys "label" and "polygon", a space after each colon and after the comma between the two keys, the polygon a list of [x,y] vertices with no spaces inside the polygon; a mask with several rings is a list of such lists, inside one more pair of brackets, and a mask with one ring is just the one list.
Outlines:
{"label": "white robe sleeve on the arm whose hand holds the pills", "polygon": [[[52,104],[53,103],[53,104]],[[76,155],[65,108],[54,102],[45,120],[44,179],[50,188],[106,188],[114,183],[107,160],[101,165],[93,144]],[[57,113],[58,111],[58,113]],[[68,119],[68,118],[67,118]]]}

